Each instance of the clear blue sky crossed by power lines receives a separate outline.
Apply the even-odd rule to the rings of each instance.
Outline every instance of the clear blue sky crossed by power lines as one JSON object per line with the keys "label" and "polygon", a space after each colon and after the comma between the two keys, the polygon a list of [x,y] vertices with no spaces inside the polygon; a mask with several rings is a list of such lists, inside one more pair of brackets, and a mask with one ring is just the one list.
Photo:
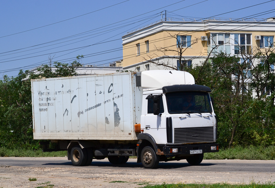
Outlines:
{"label": "clear blue sky crossed by power lines", "polygon": [[[70,62],[77,55],[84,55],[83,64],[107,64],[109,62],[122,59],[121,37],[128,31],[137,29],[144,25],[161,19],[161,11],[167,10],[167,17],[196,17],[207,18],[218,14],[230,12],[251,5],[267,2],[269,0],[151,0],[134,1],[129,0],[116,1],[2,1],[0,6],[0,78],[3,75],[16,76],[18,69],[32,69],[41,64],[48,63],[48,57],[54,56],[53,61]],[[202,2],[204,1],[204,2]],[[117,3],[123,2],[118,5]],[[177,3],[178,2],[178,3]],[[176,4],[174,4],[176,3]],[[196,4],[198,3],[198,4]],[[171,5],[174,4],[174,5]],[[196,4],[196,5],[193,5]],[[108,6],[114,5],[109,8]],[[168,6],[171,5],[171,6]],[[190,6],[191,5],[191,6]],[[266,13],[274,9],[275,1],[251,8],[227,13],[221,18],[243,18],[257,13]],[[190,7],[187,7],[190,6]],[[162,8],[164,7],[164,8]],[[187,8],[183,8],[187,7]],[[103,10],[99,10],[105,8]],[[161,8],[159,10],[156,10]],[[180,10],[177,10],[182,8]],[[99,10],[99,11],[96,11]],[[156,11],[154,11],[156,10]],[[177,11],[175,11],[177,10]],[[94,13],[90,13],[96,11]],[[273,10],[274,11],[274,10]],[[275,12],[253,16],[254,18],[275,17]],[[149,12],[149,13],[147,13]],[[168,13],[172,12],[172,13]],[[89,13],[89,14],[87,14]],[[144,14],[147,13],[147,14]],[[86,14],[86,15],[84,15]],[[144,15],[141,15],[144,14]],[[169,15],[168,15],[169,14]],[[176,15],[175,15],[176,14]],[[83,15],[83,16],[80,16]],[[138,16],[141,15],[141,16]],[[170,16],[173,15],[173,16]],[[73,18],[79,16],[77,18]],[[132,18],[137,16],[135,18]],[[73,18],[73,19],[70,19]],[[132,18],[132,19],[128,19]],[[195,19],[196,19],[195,18]],[[67,21],[63,21],[69,19]],[[127,21],[120,22],[128,19]],[[63,22],[60,22],[63,21]],[[59,22],[53,24],[55,22]],[[119,22],[119,23],[116,23]],[[129,22],[129,23],[126,23]],[[134,23],[136,22],[136,23]],[[114,24],[116,23],[116,24]],[[52,25],[48,25],[52,24]],[[109,25],[112,24],[112,25]],[[118,25],[121,24],[121,25]],[[130,25],[127,25],[130,24]],[[48,25],[46,27],[42,27]],[[109,25],[107,27],[104,27]],[[41,27],[39,29],[35,29]],[[102,28],[100,28],[102,27]],[[118,28],[120,27],[120,28]],[[98,29],[100,28],[100,29]],[[34,30],[31,30],[34,29]],[[24,32],[26,30],[31,30]],[[89,33],[87,32],[89,31]],[[22,33],[19,33],[22,32]],[[84,33],[86,32],[86,33]],[[18,33],[12,35],[14,33]],[[72,38],[55,41],[69,36],[83,33],[83,35]],[[10,35],[10,36],[7,36]],[[88,36],[90,35],[90,36]],[[83,37],[83,38],[80,38]],[[74,40],[72,40],[74,39]],[[116,40],[117,39],[117,40]],[[72,41],[69,41],[72,40]],[[115,41],[111,41],[115,40]],[[55,41],[55,42],[51,42]],[[96,44],[98,42],[105,42]],[[109,41],[109,42],[108,42]],[[51,43],[47,43],[51,42]],[[62,43],[60,43],[62,42]],[[43,44],[47,43],[47,44]],[[57,44],[60,43],[60,44]],[[73,44],[72,44],[73,43]],[[43,44],[43,45],[39,45]],[[35,46],[37,45],[37,46]],[[47,46],[50,45],[50,46]],[[89,47],[82,48],[87,45]],[[31,47],[35,46],[35,47]],[[47,47],[46,47],[47,46]],[[38,49],[35,49],[38,48]],[[21,49],[21,50],[19,50]],[[116,51],[112,50],[116,49]],[[28,51],[25,51],[28,50]],[[66,51],[64,51],[66,50]],[[95,55],[106,50],[114,52]],[[25,51],[25,52],[23,52]],[[64,52],[61,52],[64,51]],[[44,55],[47,54],[47,55]],[[94,54],[90,56],[88,54]],[[37,57],[33,57],[37,56]],[[25,58],[25,59],[22,59]],[[18,60],[17,60],[18,59]],[[8,69],[16,69],[9,71]]]}

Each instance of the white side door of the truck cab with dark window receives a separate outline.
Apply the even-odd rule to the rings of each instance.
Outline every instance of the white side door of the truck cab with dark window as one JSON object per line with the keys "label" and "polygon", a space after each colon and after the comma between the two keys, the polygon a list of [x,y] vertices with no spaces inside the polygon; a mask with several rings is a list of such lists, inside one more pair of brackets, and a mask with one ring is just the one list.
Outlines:
{"label": "white side door of the truck cab with dark window", "polygon": [[[155,94],[157,95],[157,94]],[[148,95],[147,95],[148,96]],[[155,139],[157,144],[166,144],[166,112],[163,105],[163,96],[160,98],[160,114],[153,114],[153,99],[146,100],[145,110],[145,129],[144,133],[148,133]]]}

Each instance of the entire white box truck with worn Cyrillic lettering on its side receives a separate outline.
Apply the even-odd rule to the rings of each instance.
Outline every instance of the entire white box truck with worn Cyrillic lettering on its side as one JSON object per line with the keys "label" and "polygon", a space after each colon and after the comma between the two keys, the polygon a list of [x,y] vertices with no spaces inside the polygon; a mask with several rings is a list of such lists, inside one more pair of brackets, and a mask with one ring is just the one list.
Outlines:
{"label": "entire white box truck with worn Cyrillic lettering on its side", "polygon": [[201,163],[218,152],[209,87],[188,72],[149,70],[31,80],[34,139],[44,151],[67,150],[74,166],[129,156],[145,168],[159,161]]}

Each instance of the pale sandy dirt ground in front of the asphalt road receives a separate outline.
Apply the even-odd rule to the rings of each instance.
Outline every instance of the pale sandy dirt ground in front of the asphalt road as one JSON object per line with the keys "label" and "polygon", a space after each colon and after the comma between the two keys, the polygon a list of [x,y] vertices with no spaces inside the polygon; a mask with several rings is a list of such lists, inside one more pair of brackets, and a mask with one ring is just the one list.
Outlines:
{"label": "pale sandy dirt ground in front of the asphalt road", "polygon": [[[104,159],[107,160],[107,159]],[[129,161],[136,159],[129,159]],[[206,160],[205,160],[206,161]],[[208,160],[210,161],[210,160]],[[232,160],[233,161],[233,160]],[[235,160],[234,162],[236,162]],[[19,167],[0,164],[0,188],[76,187],[128,188],[166,183],[250,183],[274,182],[273,172],[199,172],[173,169],[89,167]],[[225,169],[226,171],[226,169]],[[29,181],[37,178],[37,181]],[[126,181],[126,183],[110,183]],[[48,183],[47,183],[48,182]],[[54,186],[50,186],[54,185]]]}

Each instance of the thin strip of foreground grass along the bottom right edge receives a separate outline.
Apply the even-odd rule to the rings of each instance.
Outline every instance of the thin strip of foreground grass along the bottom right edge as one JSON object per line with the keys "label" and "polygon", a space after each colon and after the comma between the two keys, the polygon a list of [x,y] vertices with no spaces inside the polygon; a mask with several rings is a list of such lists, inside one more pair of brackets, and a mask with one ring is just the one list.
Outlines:
{"label": "thin strip of foreground grass along the bottom right edge", "polygon": [[161,185],[146,185],[143,188],[275,188],[273,183],[263,184],[227,184],[227,183],[215,183],[215,184],[166,184],[165,182]]}

